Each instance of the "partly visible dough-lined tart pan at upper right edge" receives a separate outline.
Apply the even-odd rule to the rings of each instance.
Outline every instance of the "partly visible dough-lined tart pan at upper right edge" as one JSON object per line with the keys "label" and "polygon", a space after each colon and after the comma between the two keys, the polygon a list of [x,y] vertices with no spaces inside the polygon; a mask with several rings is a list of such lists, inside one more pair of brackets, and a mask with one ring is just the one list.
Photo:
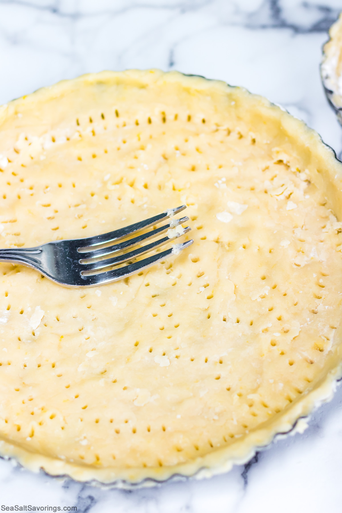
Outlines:
{"label": "partly visible dough-lined tart pan at upper right edge", "polygon": [[342,14],[330,27],[329,35],[323,47],[320,71],[328,101],[342,125]]}

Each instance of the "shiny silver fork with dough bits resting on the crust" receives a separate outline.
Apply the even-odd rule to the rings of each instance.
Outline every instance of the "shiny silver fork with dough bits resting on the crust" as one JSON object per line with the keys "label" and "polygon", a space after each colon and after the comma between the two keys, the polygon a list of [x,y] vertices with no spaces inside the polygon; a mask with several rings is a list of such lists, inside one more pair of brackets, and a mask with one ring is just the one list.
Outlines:
{"label": "shiny silver fork with dough bits resting on the crust", "polygon": [[[190,240],[183,244],[174,244],[170,249],[133,262],[140,255],[153,251],[190,231],[189,226],[182,227],[182,224],[189,221],[189,218],[186,216],[180,219],[171,219],[166,225],[131,239],[129,237],[138,231],[146,230],[166,219],[173,218],[185,208],[186,205],[170,208],[145,221],[84,239],[52,241],[34,248],[0,249],[0,262],[32,267],[53,282],[66,287],[94,287],[122,280],[160,260],[179,254],[182,249],[193,243],[193,240]],[[175,229],[177,226],[178,230]],[[170,232],[163,239],[141,246],[143,242],[168,230]],[[116,243],[119,240],[122,242]],[[115,244],[112,244],[113,242]],[[138,247],[133,249],[134,246]],[[129,250],[130,248],[131,250]],[[128,263],[128,265],[112,269],[113,266],[124,263]]]}

